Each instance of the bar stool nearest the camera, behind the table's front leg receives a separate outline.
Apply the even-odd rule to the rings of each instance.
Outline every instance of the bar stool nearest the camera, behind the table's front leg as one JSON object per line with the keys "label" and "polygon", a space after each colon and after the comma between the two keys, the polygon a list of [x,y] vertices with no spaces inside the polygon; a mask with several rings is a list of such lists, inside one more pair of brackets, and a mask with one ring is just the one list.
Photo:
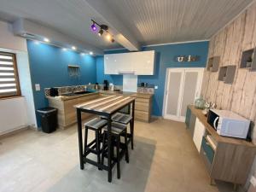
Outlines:
{"label": "bar stool nearest the camera, behind the table's front leg", "polygon": [[[113,147],[111,148],[111,156],[112,160],[114,160],[117,164],[117,177],[120,178],[120,160],[125,154],[125,160],[129,163],[129,152],[128,152],[128,141],[127,141],[127,129],[125,125],[112,122],[111,124],[111,135],[113,137],[112,146],[116,147],[116,158],[113,157]],[[120,143],[121,136],[125,136],[125,143]],[[104,165],[104,157],[108,156],[108,126],[103,127],[103,138],[102,138],[102,166]],[[120,151],[120,149],[122,149]],[[111,163],[112,164],[112,163]]]}

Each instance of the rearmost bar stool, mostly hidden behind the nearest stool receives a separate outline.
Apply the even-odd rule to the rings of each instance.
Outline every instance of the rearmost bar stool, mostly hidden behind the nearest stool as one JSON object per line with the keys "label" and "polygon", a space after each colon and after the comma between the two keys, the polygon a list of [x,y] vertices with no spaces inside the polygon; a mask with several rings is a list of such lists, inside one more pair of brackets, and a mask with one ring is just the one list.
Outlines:
{"label": "rearmost bar stool, mostly hidden behind the nearest stool", "polygon": [[130,136],[128,135],[128,137],[131,137],[131,149],[133,149],[133,132],[134,132],[134,127],[132,125],[132,117],[129,114],[125,114],[125,113],[114,113],[112,116],[112,120],[114,122],[118,122],[120,124],[123,125],[128,125],[130,124]]}

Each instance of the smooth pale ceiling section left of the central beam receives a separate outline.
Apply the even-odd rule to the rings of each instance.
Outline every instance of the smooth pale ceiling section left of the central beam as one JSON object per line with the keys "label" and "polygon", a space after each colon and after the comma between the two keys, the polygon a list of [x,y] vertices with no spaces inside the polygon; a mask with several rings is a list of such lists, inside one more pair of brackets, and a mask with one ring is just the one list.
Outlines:
{"label": "smooth pale ceiling section left of the central beam", "polygon": [[119,47],[90,31],[90,19],[101,23],[101,18],[83,0],[0,0],[0,12],[5,20],[32,20],[97,48]]}

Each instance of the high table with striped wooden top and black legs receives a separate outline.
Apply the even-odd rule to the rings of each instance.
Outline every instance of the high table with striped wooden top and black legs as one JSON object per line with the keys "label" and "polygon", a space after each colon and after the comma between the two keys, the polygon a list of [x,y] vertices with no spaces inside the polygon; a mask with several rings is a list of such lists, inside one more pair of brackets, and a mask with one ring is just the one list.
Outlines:
{"label": "high table with striped wooden top and black legs", "polygon": [[132,96],[105,96],[90,102],[84,102],[74,106],[77,108],[78,119],[78,133],[79,133],[79,159],[80,169],[84,169],[84,155],[83,155],[83,136],[82,136],[82,119],[81,113],[93,113],[104,116],[108,119],[108,166],[102,166],[102,169],[108,171],[108,182],[112,181],[112,160],[110,155],[111,148],[111,118],[112,115],[126,106],[132,105],[132,126],[134,127],[134,108],[135,97]]}

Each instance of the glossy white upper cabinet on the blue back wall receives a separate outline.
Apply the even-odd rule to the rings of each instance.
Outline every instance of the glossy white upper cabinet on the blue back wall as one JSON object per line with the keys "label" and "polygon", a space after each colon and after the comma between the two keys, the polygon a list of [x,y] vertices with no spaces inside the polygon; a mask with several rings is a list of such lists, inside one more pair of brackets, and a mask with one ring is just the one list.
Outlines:
{"label": "glossy white upper cabinet on the blue back wall", "polygon": [[154,75],[154,55],[154,50],[104,55],[104,73]]}

